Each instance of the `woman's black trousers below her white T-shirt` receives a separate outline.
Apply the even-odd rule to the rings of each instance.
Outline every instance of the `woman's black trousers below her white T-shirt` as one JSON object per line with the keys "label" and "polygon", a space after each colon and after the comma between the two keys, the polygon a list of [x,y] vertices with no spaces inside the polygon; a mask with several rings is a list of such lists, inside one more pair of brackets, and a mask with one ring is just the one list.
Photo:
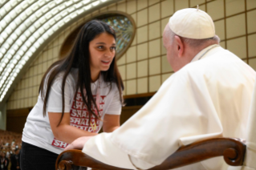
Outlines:
{"label": "woman's black trousers below her white T-shirt", "polygon": [[[22,142],[21,170],[55,170],[55,161],[58,156],[54,152]],[[87,168],[74,166],[73,170],[87,170]]]}

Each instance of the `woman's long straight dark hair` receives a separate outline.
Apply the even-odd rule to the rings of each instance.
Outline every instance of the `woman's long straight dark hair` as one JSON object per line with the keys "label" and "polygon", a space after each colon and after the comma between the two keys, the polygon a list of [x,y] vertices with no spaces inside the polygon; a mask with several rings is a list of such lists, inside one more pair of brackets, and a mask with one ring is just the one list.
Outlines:
{"label": "woman's long straight dark hair", "polygon": [[[43,99],[43,116],[46,116],[47,101],[49,93],[51,90],[51,84],[54,82],[56,75],[60,72],[63,72],[63,82],[62,82],[62,98],[63,98],[63,111],[59,123],[61,123],[64,115],[65,107],[65,83],[67,75],[70,73],[71,68],[78,68],[78,79],[75,85],[75,99],[78,91],[81,92],[83,104],[86,105],[87,111],[89,113],[89,120],[91,122],[91,115],[94,115],[96,119],[100,119],[99,115],[96,115],[91,110],[91,104],[95,106],[95,99],[91,93],[91,69],[90,69],[90,51],[89,43],[95,38],[96,35],[102,33],[111,34],[116,39],[115,30],[111,26],[108,26],[105,22],[91,20],[87,22],[82,29],[79,31],[78,37],[75,40],[74,47],[71,50],[71,53],[64,59],[53,63],[51,67],[48,68],[47,72],[43,75],[41,80],[39,93],[41,91],[41,96]],[[49,75],[48,75],[49,74]],[[101,71],[101,75],[104,77],[104,81],[110,83],[112,88],[112,83],[116,83],[120,93],[120,103],[123,103],[122,91],[124,90],[124,84],[120,76],[120,72],[116,66],[116,57],[112,60],[112,63],[108,71]],[[47,79],[47,81],[46,81]],[[46,83],[46,84],[45,84]],[[85,89],[85,92],[83,91]],[[46,91],[46,92],[45,92]],[[98,110],[98,108],[97,108]],[[99,111],[98,111],[99,112]],[[59,126],[59,124],[58,124]]]}

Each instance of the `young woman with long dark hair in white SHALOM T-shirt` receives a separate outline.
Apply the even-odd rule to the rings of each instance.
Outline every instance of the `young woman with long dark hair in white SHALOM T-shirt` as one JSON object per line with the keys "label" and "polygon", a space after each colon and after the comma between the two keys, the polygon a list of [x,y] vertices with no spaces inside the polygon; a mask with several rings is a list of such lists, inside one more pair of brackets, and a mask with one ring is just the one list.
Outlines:
{"label": "young woman with long dark hair in white SHALOM T-shirt", "polygon": [[124,86],[115,55],[115,31],[92,20],[71,54],[51,65],[23,129],[22,170],[55,169],[58,154],[73,140],[120,126]]}

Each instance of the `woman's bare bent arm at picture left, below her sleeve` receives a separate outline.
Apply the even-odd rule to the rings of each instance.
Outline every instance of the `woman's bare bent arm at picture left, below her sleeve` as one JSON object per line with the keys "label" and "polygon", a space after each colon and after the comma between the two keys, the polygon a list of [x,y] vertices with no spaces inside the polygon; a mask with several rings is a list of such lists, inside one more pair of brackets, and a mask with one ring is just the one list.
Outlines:
{"label": "woman's bare bent arm at picture left, below her sleeve", "polygon": [[[82,136],[96,136],[97,133],[83,131],[77,127],[70,125],[70,113],[66,112],[63,115],[63,119],[59,124],[61,113],[48,112],[49,120],[51,124],[51,130],[57,140],[61,140],[68,144],[71,144],[74,140]],[[59,126],[57,127],[57,125]]]}

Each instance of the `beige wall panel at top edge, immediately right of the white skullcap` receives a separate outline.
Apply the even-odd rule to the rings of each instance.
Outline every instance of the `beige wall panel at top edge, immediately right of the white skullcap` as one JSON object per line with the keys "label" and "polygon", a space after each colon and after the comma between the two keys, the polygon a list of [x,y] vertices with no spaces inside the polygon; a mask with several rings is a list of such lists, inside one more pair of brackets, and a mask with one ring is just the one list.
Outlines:
{"label": "beige wall panel at top edge, immediately right of the white skullcap", "polygon": [[213,20],[224,18],[224,0],[207,3],[207,13]]}

